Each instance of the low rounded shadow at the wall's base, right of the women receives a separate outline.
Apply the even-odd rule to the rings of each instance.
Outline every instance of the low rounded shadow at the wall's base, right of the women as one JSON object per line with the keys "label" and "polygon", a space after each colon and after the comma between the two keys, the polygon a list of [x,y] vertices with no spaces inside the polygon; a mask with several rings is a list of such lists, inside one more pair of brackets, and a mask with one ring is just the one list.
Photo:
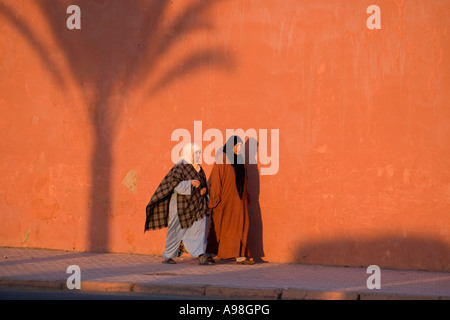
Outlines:
{"label": "low rounded shadow at the wall's base, right of the women", "polygon": [[380,236],[306,242],[298,245],[295,261],[346,267],[450,271],[450,246],[425,237]]}

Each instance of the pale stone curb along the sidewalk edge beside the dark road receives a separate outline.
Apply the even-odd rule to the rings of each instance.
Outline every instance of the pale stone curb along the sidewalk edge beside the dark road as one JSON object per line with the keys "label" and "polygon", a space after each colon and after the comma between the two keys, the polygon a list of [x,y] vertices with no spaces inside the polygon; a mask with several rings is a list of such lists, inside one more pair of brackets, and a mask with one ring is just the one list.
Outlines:
{"label": "pale stone curb along the sidewalk edge beside the dark road", "polygon": [[[37,281],[0,279],[1,289],[71,291],[66,280]],[[136,292],[159,295],[209,297],[229,300],[450,300],[450,297],[411,296],[386,293],[357,293],[299,289],[237,288],[196,285],[134,284],[82,281],[83,292]]]}

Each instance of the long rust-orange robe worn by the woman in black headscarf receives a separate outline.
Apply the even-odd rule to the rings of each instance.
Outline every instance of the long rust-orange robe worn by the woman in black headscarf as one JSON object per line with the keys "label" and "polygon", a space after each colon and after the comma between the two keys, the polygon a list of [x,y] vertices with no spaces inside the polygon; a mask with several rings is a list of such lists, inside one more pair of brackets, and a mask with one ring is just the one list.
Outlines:
{"label": "long rust-orange robe worn by the woman in black headscarf", "polygon": [[210,176],[209,207],[212,219],[207,239],[206,252],[216,254],[218,258],[229,259],[248,256],[247,234],[248,216],[248,179],[245,167],[245,183],[242,199],[236,188],[234,168],[226,163],[214,164]]}

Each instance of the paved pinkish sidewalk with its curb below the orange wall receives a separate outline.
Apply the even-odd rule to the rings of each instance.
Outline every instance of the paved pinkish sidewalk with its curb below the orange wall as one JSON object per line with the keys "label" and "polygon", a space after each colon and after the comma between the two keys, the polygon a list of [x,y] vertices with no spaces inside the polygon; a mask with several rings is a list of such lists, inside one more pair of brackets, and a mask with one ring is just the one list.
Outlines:
{"label": "paved pinkish sidewalk with its curb below the orange wall", "polygon": [[450,299],[450,273],[381,270],[370,290],[366,268],[304,264],[200,266],[184,255],[176,265],[161,256],[0,248],[0,290],[69,290],[67,267],[81,270],[81,290],[145,292],[218,299]]}

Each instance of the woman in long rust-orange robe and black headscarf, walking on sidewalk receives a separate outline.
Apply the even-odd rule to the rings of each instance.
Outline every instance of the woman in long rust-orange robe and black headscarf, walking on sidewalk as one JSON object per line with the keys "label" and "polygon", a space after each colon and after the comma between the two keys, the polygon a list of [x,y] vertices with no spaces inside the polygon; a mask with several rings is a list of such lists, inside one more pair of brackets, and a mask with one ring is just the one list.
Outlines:
{"label": "woman in long rust-orange robe and black headscarf, walking on sidewalk", "polygon": [[206,253],[221,259],[253,264],[247,248],[249,228],[247,169],[241,155],[242,140],[228,139],[223,155],[210,176],[209,208],[212,210]]}

